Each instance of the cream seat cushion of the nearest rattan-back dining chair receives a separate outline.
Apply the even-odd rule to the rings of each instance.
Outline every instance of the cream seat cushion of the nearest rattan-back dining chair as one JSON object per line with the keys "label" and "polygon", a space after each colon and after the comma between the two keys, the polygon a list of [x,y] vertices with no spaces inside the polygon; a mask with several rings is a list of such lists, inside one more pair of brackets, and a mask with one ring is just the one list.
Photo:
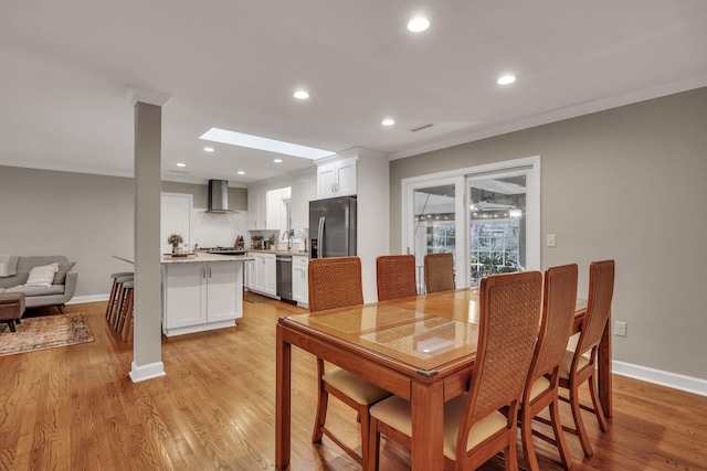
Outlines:
{"label": "cream seat cushion of the nearest rattan-back dining chair", "polygon": [[[444,404],[444,456],[451,460],[456,459],[456,437],[460,431],[466,394],[463,394]],[[371,407],[371,416],[405,433],[412,436],[412,417],[410,403],[398,396],[389,397]],[[506,417],[495,411],[472,426],[466,449],[471,450],[495,432],[506,428]]]}

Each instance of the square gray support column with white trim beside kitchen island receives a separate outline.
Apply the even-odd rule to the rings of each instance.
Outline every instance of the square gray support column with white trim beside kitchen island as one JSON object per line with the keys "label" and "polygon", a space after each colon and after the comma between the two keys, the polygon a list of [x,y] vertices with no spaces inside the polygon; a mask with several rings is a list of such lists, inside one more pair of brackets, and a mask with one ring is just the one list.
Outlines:
{"label": "square gray support column with white trim beside kitchen island", "polygon": [[168,95],[129,87],[135,106],[135,329],[133,382],[165,375],[161,349],[161,106]]}

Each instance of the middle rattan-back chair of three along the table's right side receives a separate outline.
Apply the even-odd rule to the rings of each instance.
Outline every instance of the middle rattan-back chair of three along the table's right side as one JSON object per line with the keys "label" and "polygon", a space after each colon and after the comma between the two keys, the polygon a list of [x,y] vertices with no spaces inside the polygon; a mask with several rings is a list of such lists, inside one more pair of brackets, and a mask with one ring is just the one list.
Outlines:
{"label": "middle rattan-back chair of three along the table's right side", "polygon": [[[545,271],[540,330],[520,406],[520,436],[526,465],[530,471],[540,469],[532,443],[534,435],[557,447],[564,469],[572,467],[560,421],[558,384],[560,366],[574,322],[577,278],[577,264],[551,267]],[[538,417],[546,408],[550,411],[549,420]],[[550,425],[555,438],[534,430],[534,418]]]}

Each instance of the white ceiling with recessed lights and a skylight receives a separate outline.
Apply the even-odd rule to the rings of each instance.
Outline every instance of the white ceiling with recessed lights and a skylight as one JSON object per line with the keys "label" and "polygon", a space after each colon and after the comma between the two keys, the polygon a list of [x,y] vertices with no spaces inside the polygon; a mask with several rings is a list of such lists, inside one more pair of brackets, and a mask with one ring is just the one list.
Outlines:
{"label": "white ceiling with recessed lights and a skylight", "polygon": [[313,163],[211,127],[394,159],[707,86],[707,2],[3,0],[0,64],[0,164],[131,175],[133,85],[171,95],[166,180],[239,186]]}

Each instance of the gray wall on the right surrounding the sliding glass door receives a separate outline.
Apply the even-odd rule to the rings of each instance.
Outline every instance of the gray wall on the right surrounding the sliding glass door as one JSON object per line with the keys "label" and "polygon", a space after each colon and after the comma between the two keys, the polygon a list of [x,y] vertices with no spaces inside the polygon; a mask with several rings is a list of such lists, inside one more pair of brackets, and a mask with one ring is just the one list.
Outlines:
{"label": "gray wall on the right surrounding the sliding glass door", "polygon": [[[614,258],[614,360],[707,379],[707,88],[391,161],[401,179],[541,156],[544,268]],[[401,251],[391,217],[392,254]]]}

